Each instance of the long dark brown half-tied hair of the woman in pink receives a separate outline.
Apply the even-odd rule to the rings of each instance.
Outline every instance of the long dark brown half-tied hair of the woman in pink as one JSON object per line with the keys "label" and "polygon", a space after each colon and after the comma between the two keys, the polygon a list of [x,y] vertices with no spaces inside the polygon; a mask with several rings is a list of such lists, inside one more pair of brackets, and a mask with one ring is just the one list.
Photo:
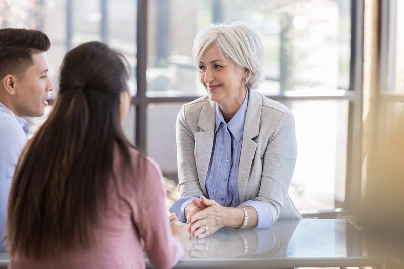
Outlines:
{"label": "long dark brown half-tied hair of the woman in pink", "polygon": [[84,43],[65,56],[52,112],[23,150],[14,175],[8,208],[12,255],[42,258],[89,245],[108,187],[117,187],[114,151],[123,170],[131,164],[119,117],[127,78],[125,58],[103,43]]}

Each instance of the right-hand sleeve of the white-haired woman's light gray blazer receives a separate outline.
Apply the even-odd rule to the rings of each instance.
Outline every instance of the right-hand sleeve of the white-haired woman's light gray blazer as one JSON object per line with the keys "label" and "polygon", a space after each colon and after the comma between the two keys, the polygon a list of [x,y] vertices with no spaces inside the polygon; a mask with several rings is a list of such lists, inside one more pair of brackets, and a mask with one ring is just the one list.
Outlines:
{"label": "right-hand sleeve of the white-haired woman's light gray blazer", "polygon": [[272,223],[276,222],[287,201],[296,157],[294,117],[292,113],[287,112],[279,119],[268,141],[263,159],[260,190],[254,199],[269,207],[272,212]]}

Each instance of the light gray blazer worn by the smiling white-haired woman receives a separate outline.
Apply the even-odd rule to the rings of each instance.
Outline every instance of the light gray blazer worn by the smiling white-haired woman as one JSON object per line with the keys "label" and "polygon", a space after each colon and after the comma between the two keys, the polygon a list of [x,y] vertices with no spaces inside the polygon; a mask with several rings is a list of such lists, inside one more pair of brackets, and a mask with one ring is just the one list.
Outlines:
{"label": "light gray blazer worn by the smiling white-haired woman", "polygon": [[[208,96],[184,104],[176,122],[178,189],[181,197],[207,196],[216,103]],[[301,218],[288,188],[296,164],[293,114],[286,106],[250,90],[238,172],[240,203],[263,202],[273,216]]]}

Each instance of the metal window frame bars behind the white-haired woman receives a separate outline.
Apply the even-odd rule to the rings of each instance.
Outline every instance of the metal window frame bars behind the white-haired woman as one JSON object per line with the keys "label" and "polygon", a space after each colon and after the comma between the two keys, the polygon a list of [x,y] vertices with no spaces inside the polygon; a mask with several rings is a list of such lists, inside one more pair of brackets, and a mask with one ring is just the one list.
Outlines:
{"label": "metal window frame bars behind the white-haired woman", "polygon": [[[108,42],[108,0],[99,0],[102,19],[100,20],[100,36],[103,42]],[[66,0],[67,8],[67,31],[66,48],[72,48],[72,2]],[[213,18],[220,19],[220,1],[213,1]],[[146,94],[147,81],[147,24],[148,24],[148,0],[137,0],[137,23],[136,23],[136,60],[135,67],[137,91],[132,96],[131,104],[135,107],[135,137],[137,147],[146,153],[147,151],[147,106],[153,103],[185,103],[200,96],[178,96],[178,97],[149,97]],[[135,7],[134,7],[135,8]],[[363,86],[363,23],[364,23],[364,0],[351,0],[351,57],[349,88],[327,91],[323,95],[318,92],[310,93],[305,91],[304,95],[296,95],[291,92],[281,92],[278,95],[266,95],[266,97],[277,101],[295,100],[348,100],[348,141],[346,156],[346,178],[345,178],[345,199],[335,201],[340,205],[335,210],[310,212],[309,217],[321,217],[322,214],[330,212],[344,213],[358,208],[361,197],[361,150],[362,150],[362,86]]]}

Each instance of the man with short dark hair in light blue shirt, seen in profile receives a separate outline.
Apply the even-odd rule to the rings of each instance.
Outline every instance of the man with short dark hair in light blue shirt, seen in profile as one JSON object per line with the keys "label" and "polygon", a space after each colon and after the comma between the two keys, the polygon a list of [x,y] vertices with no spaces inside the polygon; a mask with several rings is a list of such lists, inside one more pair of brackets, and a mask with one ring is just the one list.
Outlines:
{"label": "man with short dark hair in light blue shirt, seen in profile", "polygon": [[40,31],[0,29],[0,249],[14,169],[30,128],[22,117],[42,116],[54,88],[47,76],[50,47]]}

